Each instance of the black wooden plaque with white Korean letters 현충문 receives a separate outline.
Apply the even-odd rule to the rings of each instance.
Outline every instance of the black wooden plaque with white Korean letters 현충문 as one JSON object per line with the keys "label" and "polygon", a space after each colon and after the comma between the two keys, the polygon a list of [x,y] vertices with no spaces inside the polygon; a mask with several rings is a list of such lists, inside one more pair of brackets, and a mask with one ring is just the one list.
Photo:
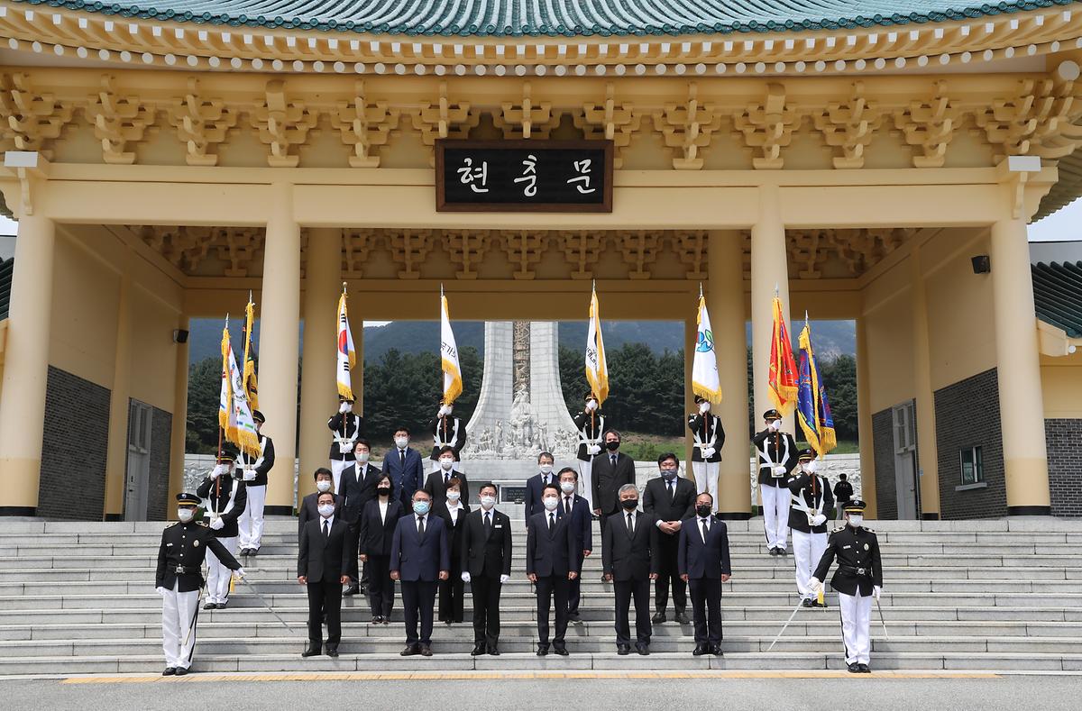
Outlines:
{"label": "black wooden plaque with white Korean letters \ud604\ucda9\ubb38", "polygon": [[612,212],[612,142],[441,138],[436,210]]}

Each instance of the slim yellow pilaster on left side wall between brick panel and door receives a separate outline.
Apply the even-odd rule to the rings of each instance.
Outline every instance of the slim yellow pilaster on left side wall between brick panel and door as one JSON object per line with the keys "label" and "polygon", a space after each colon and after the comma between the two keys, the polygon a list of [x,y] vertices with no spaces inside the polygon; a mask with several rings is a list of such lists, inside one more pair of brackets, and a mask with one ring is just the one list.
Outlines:
{"label": "slim yellow pilaster on left side wall between brick panel and door", "polygon": [[[127,256],[127,255],[126,255]],[[109,394],[109,439],[105,457],[105,520],[121,521],[128,480],[128,411],[131,357],[131,289],[127,259],[120,268],[120,294],[117,300],[117,346],[113,364],[113,389]]]}

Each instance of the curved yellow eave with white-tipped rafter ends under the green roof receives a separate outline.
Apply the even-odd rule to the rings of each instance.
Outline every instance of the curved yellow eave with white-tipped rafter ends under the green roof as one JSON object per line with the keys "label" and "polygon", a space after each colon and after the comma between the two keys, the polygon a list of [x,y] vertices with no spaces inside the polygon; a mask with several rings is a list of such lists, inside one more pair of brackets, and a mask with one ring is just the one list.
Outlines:
{"label": "curved yellow eave with white-tipped rafter ends under the green roof", "polygon": [[[910,12],[854,14],[849,22],[842,22],[842,14],[831,21],[795,15],[762,21],[748,18],[744,11],[744,19],[731,17],[728,24],[720,19],[712,24],[655,24],[647,21],[659,16],[661,0],[589,0],[581,8],[573,2],[554,5],[560,4],[567,13],[572,8],[576,14],[593,12],[595,25],[568,30],[562,22],[551,27],[535,23],[528,27],[536,33],[522,36],[504,33],[503,29],[488,32],[488,24],[478,29],[466,25],[462,33],[453,35],[433,19],[435,15],[410,24],[395,13],[418,4],[438,4],[445,12],[448,8],[519,8],[526,4],[523,0],[364,3],[364,12],[369,14],[382,9],[381,16],[386,19],[375,24],[340,22],[344,15],[334,12],[344,13],[355,3],[316,9],[312,11],[316,14],[302,18],[299,13],[308,5],[285,0],[277,6],[296,11],[290,15],[282,9],[268,19],[266,14],[240,12],[264,6],[260,0],[171,1],[186,4],[151,12],[136,5],[80,0],[0,0],[0,38],[6,38],[10,50],[37,53],[51,64],[69,66],[93,61],[183,69],[460,76],[956,71],[966,70],[963,65],[971,63],[1002,65],[1004,61],[1017,63],[1082,48],[1082,13],[1073,11],[1073,0],[1005,2],[961,10],[909,0]],[[716,2],[702,4],[696,13],[704,16],[736,13]],[[890,3],[832,0],[829,4],[852,10]],[[642,10],[637,25],[622,26],[624,35],[618,35],[615,26],[605,29],[602,21],[608,15],[597,10],[604,6],[615,13],[621,8],[647,5],[654,10]],[[678,5],[682,16],[690,12],[686,2],[671,0],[671,5]],[[789,5],[779,0],[779,6]],[[398,24],[392,24],[395,17]],[[557,31],[560,27],[564,29]],[[637,36],[632,31],[636,28]],[[571,38],[566,37],[568,31]],[[8,64],[17,65],[17,55]]]}

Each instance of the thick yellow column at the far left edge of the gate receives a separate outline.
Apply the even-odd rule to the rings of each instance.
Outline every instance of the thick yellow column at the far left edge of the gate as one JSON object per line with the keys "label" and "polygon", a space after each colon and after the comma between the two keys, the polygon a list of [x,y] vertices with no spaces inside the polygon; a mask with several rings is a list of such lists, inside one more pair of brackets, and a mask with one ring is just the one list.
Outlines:
{"label": "thick yellow column at the far left edge of the gate", "polygon": [[38,507],[55,247],[52,219],[19,219],[0,389],[0,515],[34,515]]}

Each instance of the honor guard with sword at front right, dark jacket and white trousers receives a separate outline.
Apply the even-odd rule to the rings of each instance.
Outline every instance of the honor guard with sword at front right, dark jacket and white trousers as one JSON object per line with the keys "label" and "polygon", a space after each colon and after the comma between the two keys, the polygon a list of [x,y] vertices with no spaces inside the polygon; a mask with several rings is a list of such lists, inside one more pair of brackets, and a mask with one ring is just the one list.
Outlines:
{"label": "honor guard with sword at front right, dark jacket and white trousers", "polygon": [[879,601],[883,590],[883,563],[880,559],[875,532],[863,526],[865,502],[854,499],[845,505],[845,525],[830,534],[827,550],[819,559],[812,587],[822,590],[831,563],[837,560],[837,571],[830,587],[837,592],[842,609],[842,640],[845,663],[853,673],[869,673],[872,600]]}

